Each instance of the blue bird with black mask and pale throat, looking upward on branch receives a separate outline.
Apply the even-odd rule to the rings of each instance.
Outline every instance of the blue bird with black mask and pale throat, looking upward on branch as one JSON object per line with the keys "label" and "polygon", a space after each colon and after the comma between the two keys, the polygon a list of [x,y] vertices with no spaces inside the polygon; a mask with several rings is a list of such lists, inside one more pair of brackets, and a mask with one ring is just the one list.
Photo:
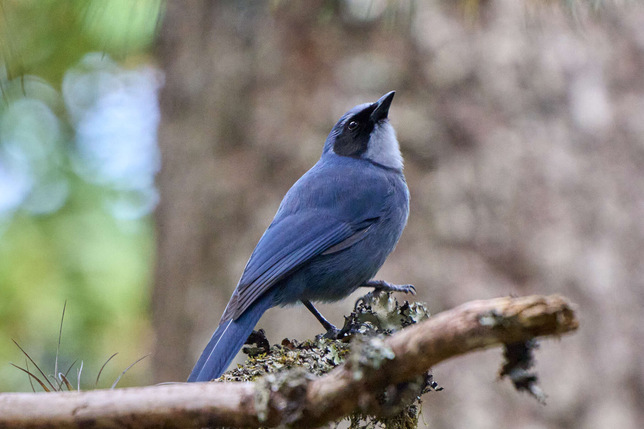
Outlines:
{"label": "blue bird with black mask and pale throat, looking upward on branch", "polygon": [[409,215],[403,156],[389,108],[395,91],[359,104],[337,121],[321,157],[287,192],[248,260],[219,326],[187,381],[220,377],[274,306],[334,302],[361,287],[415,293],[372,280],[395,248]]}

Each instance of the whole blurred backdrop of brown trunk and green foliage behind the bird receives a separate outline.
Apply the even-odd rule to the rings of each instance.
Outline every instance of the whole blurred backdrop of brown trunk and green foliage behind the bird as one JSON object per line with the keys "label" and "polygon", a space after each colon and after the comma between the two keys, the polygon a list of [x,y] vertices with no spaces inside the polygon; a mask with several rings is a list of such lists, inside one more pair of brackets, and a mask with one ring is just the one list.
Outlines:
{"label": "whole blurred backdrop of brown trunk and green foliage behind the bird", "polygon": [[[0,54],[0,391],[31,390],[12,338],[53,372],[65,300],[81,387],[115,352],[99,387],[148,352],[120,386],[187,378],[337,118],[395,89],[411,209],[378,277],[433,313],[562,293],[582,323],[541,344],[547,406],[496,349],[434,369],[426,424],[641,427],[639,2],[1,0]],[[258,327],[321,331],[303,307]]]}

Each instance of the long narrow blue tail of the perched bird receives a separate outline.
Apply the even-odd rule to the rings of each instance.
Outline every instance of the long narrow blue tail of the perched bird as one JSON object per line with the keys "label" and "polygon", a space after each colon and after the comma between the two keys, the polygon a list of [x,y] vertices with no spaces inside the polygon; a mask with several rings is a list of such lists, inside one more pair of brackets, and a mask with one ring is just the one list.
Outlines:
{"label": "long narrow blue tail of the perched bird", "polygon": [[236,320],[222,322],[194,365],[188,382],[209,381],[221,376],[246,342],[261,315],[272,306],[273,296],[269,293],[258,298]]}

